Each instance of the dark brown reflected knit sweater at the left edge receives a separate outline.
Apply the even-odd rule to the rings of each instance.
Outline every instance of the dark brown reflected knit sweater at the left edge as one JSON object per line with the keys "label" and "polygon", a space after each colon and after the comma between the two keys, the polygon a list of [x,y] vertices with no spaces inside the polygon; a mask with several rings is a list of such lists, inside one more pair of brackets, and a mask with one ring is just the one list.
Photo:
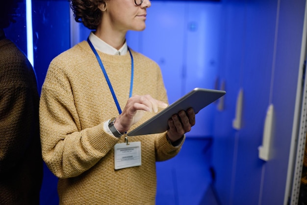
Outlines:
{"label": "dark brown reflected knit sweater at the left edge", "polygon": [[0,40],[0,205],[38,205],[43,176],[39,94],[26,56]]}

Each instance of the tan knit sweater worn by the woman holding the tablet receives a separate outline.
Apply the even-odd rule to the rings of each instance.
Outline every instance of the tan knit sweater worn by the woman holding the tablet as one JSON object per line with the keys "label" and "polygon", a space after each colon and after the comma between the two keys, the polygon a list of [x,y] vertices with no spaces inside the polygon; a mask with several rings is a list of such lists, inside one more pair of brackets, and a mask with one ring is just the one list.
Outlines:
{"label": "tan knit sweater worn by the woman holding the tablet", "polygon": [[[97,51],[123,110],[129,97],[131,59]],[[132,52],[132,95],[150,94],[167,103],[159,66]],[[145,116],[131,130],[152,117]],[[86,41],[51,61],[40,100],[43,159],[59,177],[60,204],[154,205],[155,162],[174,157],[166,133],[129,137],[141,142],[142,165],[114,170],[114,146],[125,143],[103,129],[103,123],[119,116],[102,69]]]}

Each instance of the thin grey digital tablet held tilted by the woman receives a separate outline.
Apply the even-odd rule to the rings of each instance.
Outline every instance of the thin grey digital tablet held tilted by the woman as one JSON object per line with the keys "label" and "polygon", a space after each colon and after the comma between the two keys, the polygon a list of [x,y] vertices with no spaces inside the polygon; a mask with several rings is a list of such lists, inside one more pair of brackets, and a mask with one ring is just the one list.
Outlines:
{"label": "thin grey digital tablet held tilted by the woman", "polygon": [[224,90],[194,88],[189,93],[169,105],[157,115],[128,132],[128,136],[148,135],[165,132],[169,129],[168,119],[179,111],[193,108],[195,113],[226,94]]}

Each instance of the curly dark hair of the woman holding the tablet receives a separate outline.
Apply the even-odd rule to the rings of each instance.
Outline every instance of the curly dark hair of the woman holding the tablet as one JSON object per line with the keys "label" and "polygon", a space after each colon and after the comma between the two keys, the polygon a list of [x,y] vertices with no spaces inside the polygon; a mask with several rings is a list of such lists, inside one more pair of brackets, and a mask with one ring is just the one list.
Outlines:
{"label": "curly dark hair of the woman holding the tablet", "polygon": [[75,20],[83,23],[85,27],[96,30],[101,23],[102,11],[99,5],[107,0],[71,0],[70,7],[73,9]]}

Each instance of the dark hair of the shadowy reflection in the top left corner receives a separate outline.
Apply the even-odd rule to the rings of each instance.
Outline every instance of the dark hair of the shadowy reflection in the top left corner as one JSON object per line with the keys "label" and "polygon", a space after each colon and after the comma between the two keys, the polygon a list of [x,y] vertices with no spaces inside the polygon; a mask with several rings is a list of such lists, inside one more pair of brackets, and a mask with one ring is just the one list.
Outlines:
{"label": "dark hair of the shadowy reflection in the top left corner", "polygon": [[17,16],[16,9],[18,3],[24,0],[0,0],[0,29],[7,28],[11,23],[15,23],[14,17]]}

